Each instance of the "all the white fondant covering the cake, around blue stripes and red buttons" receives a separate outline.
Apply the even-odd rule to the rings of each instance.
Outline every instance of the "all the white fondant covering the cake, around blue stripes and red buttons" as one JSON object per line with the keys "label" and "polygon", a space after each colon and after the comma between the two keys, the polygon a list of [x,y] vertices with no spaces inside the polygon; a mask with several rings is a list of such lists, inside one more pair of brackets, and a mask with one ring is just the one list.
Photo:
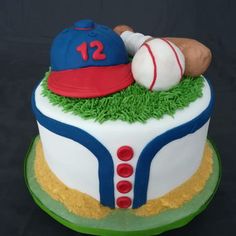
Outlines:
{"label": "all the white fondant covering the cake, around blue stripes and red buttons", "polygon": [[[205,80],[203,96],[188,107],[178,110],[174,117],[166,115],[160,120],[150,119],[145,124],[128,124],[122,121],[100,124],[64,113],[60,107],[53,106],[41,95],[40,85],[35,91],[36,107],[43,115],[86,131],[110,152],[115,172],[111,176],[114,179],[115,199],[120,196],[133,199],[133,188],[129,193],[121,194],[117,191],[116,184],[120,180],[128,180],[134,186],[137,161],[144,147],[155,137],[194,119],[207,108],[210,100],[211,92]],[[208,124],[209,122],[196,132],[170,142],[156,154],[150,169],[148,200],[171,191],[195,173],[201,162]],[[46,161],[54,174],[68,187],[99,200],[98,161],[94,154],[81,144],[55,134],[40,124],[39,131]],[[116,173],[118,164],[124,163],[117,157],[117,150],[126,145],[134,150],[133,158],[127,162],[133,167],[134,174],[122,178]]]}

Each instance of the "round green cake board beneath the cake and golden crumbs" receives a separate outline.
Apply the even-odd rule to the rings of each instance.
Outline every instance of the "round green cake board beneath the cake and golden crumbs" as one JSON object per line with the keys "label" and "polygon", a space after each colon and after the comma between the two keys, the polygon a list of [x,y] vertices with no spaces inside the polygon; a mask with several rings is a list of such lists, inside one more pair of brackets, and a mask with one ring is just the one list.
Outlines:
{"label": "round green cake board beneath the cake and golden crumbs", "polygon": [[64,226],[81,233],[93,235],[157,235],[182,227],[200,214],[212,200],[221,177],[220,157],[208,139],[213,151],[213,173],[201,193],[178,209],[164,211],[158,215],[140,217],[132,210],[116,210],[105,218],[96,220],[77,216],[69,212],[60,202],[53,200],[37,183],[34,173],[36,137],[25,158],[24,174],[27,187],[35,203],[52,218]]}

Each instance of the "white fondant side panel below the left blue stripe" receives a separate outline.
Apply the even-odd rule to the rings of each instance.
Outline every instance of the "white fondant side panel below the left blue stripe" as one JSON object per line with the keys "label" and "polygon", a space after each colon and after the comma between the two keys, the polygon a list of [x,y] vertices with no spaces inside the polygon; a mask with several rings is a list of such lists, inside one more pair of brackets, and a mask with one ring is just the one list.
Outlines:
{"label": "white fondant side panel below the left blue stripe", "polygon": [[38,123],[43,151],[52,172],[69,188],[100,200],[98,162],[81,144],[57,135]]}

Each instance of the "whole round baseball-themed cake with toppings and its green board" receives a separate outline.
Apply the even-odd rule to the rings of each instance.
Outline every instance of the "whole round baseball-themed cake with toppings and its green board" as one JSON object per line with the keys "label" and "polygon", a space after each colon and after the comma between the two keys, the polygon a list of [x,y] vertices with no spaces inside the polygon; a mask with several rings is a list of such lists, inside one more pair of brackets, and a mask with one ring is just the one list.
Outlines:
{"label": "whole round baseball-themed cake with toppings and its green board", "polygon": [[207,141],[209,81],[183,75],[186,57],[169,40],[125,34],[91,20],[62,31],[32,94],[40,138],[26,161],[27,185],[38,205],[80,232],[179,227],[207,205],[219,181]]}

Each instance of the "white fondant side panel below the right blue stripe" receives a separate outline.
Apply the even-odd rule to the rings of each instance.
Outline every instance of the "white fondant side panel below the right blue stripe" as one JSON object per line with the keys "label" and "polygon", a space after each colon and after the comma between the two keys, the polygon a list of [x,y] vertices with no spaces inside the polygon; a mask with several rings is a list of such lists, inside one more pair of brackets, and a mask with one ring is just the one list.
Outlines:
{"label": "white fondant side panel below the right blue stripe", "polygon": [[169,143],[157,153],[151,164],[148,200],[163,196],[197,171],[203,156],[208,126],[209,121],[195,133]]}

